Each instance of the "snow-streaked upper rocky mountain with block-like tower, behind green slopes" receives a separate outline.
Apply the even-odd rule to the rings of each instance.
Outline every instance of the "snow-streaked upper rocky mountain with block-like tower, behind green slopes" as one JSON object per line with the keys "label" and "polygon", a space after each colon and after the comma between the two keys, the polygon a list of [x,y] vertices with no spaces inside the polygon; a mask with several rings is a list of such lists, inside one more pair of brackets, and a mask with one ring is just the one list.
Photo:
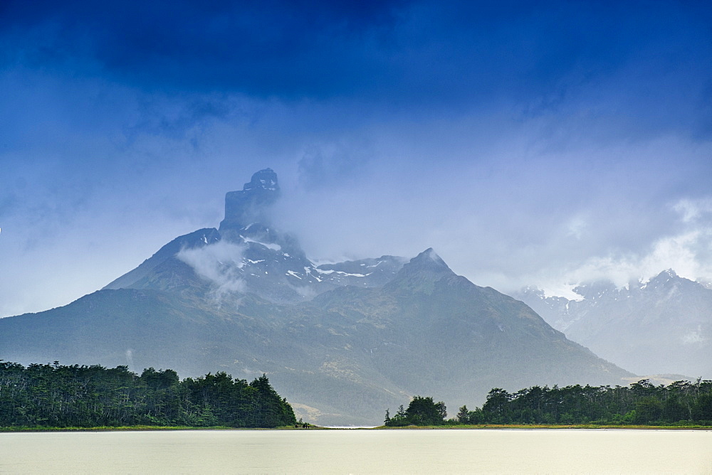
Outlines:
{"label": "snow-streaked upper rocky mountain with block-like tower, behind green slopes", "polygon": [[383,285],[407,262],[384,255],[315,265],[296,237],[271,225],[268,211],[279,194],[277,174],[271,169],[258,171],[242,191],[226,194],[219,230],[206,228],[177,237],[105,289],[214,297],[248,292],[276,303],[295,303],[342,285]]}

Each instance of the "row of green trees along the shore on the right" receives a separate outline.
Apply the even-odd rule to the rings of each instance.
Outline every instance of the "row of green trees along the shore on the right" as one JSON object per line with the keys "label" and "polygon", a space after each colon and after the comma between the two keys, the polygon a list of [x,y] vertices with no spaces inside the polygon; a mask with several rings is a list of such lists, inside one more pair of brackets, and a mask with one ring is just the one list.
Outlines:
{"label": "row of green trees along the shore on the right", "polygon": [[399,407],[384,425],[712,425],[712,380],[654,385],[640,380],[629,386],[532,386],[508,393],[493,388],[482,407],[459,408],[446,417],[444,402],[416,396]]}

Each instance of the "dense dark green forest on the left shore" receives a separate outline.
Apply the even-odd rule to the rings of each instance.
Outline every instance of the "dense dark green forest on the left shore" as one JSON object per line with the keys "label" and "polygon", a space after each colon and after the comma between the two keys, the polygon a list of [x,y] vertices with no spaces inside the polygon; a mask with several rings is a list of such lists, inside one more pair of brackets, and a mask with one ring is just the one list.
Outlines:
{"label": "dense dark green forest on the left shore", "polygon": [[0,360],[0,427],[279,427],[292,407],[266,375],[224,372],[180,380],[174,370],[31,364]]}

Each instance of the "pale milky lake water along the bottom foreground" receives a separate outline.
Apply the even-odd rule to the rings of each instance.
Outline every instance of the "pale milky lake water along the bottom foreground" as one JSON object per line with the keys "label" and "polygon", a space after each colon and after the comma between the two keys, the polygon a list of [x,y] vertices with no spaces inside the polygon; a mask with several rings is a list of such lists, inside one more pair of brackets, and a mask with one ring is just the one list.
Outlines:
{"label": "pale milky lake water along the bottom foreground", "polygon": [[712,431],[302,429],[1,433],[0,472],[712,474]]}

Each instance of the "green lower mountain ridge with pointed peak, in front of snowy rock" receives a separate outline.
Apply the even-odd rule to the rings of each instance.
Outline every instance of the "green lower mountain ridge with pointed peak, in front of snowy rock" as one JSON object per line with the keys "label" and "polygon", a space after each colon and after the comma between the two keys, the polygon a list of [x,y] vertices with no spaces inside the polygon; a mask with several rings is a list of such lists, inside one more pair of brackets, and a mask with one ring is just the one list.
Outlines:
{"label": "green lower mountain ridge with pointed peak, in front of snowy rock", "polygon": [[621,383],[631,376],[568,341],[528,306],[456,276],[427,250],[384,287],[338,287],[278,305],[105,289],[0,320],[9,361],[129,364],[181,375],[267,373],[302,417],[377,424],[417,394],[478,404],[493,387]]}

